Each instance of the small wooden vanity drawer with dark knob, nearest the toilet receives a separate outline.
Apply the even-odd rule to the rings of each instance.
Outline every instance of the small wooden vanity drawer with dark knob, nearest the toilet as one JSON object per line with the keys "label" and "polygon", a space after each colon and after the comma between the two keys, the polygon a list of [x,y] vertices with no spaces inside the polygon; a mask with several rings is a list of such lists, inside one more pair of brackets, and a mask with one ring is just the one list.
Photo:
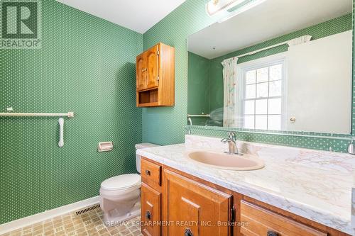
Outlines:
{"label": "small wooden vanity drawer with dark knob, nearest the toilet", "polygon": [[142,181],[155,189],[161,184],[161,166],[147,159],[141,159]]}

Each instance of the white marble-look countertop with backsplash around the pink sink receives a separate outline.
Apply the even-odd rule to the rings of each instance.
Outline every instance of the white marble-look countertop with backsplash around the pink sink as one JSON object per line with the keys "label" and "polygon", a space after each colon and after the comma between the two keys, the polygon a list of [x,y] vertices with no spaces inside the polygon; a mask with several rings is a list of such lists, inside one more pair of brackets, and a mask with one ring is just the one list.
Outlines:
{"label": "white marble-look countertop with backsplash around the pink sink", "polygon": [[188,158],[190,152],[226,150],[219,143],[187,135],[185,144],[141,149],[137,154],[352,235],[354,156],[239,142],[241,152],[257,155],[266,166],[243,172],[205,167]]}

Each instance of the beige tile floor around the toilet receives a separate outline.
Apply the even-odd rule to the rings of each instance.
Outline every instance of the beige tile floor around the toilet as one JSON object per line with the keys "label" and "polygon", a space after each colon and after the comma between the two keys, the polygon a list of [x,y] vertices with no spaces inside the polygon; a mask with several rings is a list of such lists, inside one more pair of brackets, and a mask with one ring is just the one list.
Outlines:
{"label": "beige tile floor around the toilet", "polygon": [[77,215],[75,212],[60,215],[34,225],[23,227],[0,236],[137,236],[141,235],[140,217],[133,218],[113,227],[104,225],[100,208]]}

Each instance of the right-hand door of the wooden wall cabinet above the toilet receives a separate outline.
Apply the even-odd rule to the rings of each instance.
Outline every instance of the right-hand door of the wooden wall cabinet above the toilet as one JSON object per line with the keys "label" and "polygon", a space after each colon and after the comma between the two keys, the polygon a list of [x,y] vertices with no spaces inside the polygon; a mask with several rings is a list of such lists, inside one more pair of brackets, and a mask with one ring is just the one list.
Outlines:
{"label": "right-hand door of the wooden wall cabinet above the toilet", "polygon": [[158,45],[144,52],[146,54],[146,89],[158,86]]}

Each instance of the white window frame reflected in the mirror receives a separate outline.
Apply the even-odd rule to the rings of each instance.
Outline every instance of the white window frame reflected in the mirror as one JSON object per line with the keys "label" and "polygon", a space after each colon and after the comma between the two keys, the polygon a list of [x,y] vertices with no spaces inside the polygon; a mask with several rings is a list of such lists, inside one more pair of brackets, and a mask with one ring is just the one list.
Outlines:
{"label": "white window frame reflected in the mirror", "polygon": [[[283,66],[283,71],[282,71],[282,78],[281,78],[281,96],[268,96],[268,97],[263,97],[263,98],[255,98],[255,99],[245,99],[245,93],[246,93],[246,72],[253,70],[253,69],[261,69],[264,67],[272,67],[276,64],[282,64]],[[242,64],[239,64],[238,67],[239,73],[238,73],[238,80],[239,83],[237,83],[240,86],[237,88],[237,91],[239,91],[239,96],[238,96],[238,104],[239,109],[237,113],[239,114],[239,126],[241,128],[245,128],[245,120],[244,116],[245,115],[245,107],[244,107],[244,102],[245,101],[257,101],[257,100],[263,100],[263,99],[273,99],[273,98],[280,98],[281,99],[281,124],[280,124],[280,130],[270,130],[270,131],[282,131],[285,130],[286,128],[286,121],[287,121],[287,57],[285,55],[278,55],[277,57],[263,57],[257,60],[252,60],[249,62],[244,62]],[[270,77],[268,78],[270,79]],[[270,81],[268,80],[268,83]],[[257,82],[256,82],[256,88],[257,88]],[[270,85],[270,84],[269,84]],[[257,89],[256,89],[257,93]],[[251,130],[257,130],[256,129],[256,113],[255,113],[255,107],[256,105],[254,104],[254,128],[246,128],[246,129],[251,129]],[[272,115],[272,114],[271,114]],[[269,114],[266,114],[266,116],[270,116]],[[268,121],[267,121],[268,122]],[[268,123],[267,123],[268,126]],[[269,130],[268,127],[266,130]]]}

